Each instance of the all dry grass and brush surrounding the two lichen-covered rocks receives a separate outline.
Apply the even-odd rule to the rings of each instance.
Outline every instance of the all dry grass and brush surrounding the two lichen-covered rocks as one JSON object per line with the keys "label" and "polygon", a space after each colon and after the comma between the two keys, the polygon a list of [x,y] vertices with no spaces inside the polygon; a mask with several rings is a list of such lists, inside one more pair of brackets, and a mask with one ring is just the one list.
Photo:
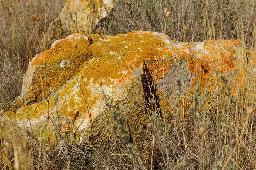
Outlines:
{"label": "all dry grass and brush surrounding the two lichen-covered rocks", "polygon": [[[45,49],[41,41],[47,26],[61,10],[59,0],[47,3],[0,0],[0,108],[20,94],[27,63]],[[164,8],[171,12],[168,20]],[[102,34],[166,32],[180,42],[239,38],[254,49],[255,8],[255,0],[119,0],[97,28]],[[32,15],[37,16],[36,24]],[[247,63],[243,65],[253,70]],[[30,131],[22,132],[16,124],[4,127],[3,122],[0,169],[255,169],[256,78],[250,72],[246,74],[247,83],[236,97],[230,96],[223,75],[217,75],[213,94],[199,91],[197,86],[190,98],[192,105],[186,108],[189,116],[184,119],[180,119],[178,96],[173,97],[169,101],[172,114],[163,119],[157,110],[151,110],[151,114],[145,114],[146,127],[142,125],[132,140],[125,115],[107,94],[104,99],[109,114],[105,119],[113,128],[102,124],[106,127],[102,133],[108,136],[95,135],[93,142],[88,139],[79,143],[72,134],[59,134],[60,141],[49,150],[48,142],[36,140]],[[211,105],[205,108],[209,99]],[[54,133],[60,132],[56,129]]]}

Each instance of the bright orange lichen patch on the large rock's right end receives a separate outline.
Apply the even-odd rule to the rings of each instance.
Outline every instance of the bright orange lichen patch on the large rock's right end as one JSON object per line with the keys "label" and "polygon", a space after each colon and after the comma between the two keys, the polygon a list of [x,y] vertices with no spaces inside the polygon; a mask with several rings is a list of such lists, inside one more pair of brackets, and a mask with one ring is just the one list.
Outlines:
{"label": "bright orange lichen patch on the large rock's right end", "polygon": [[233,45],[236,45],[236,42],[232,40],[230,42],[228,40],[207,40],[204,42],[203,48],[209,54],[201,54],[198,57],[190,56],[188,69],[195,75],[191,89],[199,81],[200,91],[203,91],[207,83],[210,82],[208,91],[211,91],[215,89],[216,69],[218,74],[227,74],[227,72],[236,68],[237,64],[233,61],[231,55],[225,51]]}

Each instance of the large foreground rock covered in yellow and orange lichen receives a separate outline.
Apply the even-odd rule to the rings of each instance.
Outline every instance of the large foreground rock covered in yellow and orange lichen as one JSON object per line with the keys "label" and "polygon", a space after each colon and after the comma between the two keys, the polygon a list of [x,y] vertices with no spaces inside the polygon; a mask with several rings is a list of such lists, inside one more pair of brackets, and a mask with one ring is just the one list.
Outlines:
{"label": "large foreground rock covered in yellow and orange lichen", "polygon": [[43,134],[48,114],[52,128],[82,132],[108,113],[104,91],[120,113],[134,120],[130,128],[135,130],[145,113],[171,114],[169,99],[192,97],[198,82],[199,91],[207,87],[214,93],[217,74],[225,75],[235,96],[246,71],[239,63],[250,52],[240,45],[241,40],[180,43],[149,31],[102,37],[76,33],[32,59],[22,93],[5,115],[17,121],[26,116],[37,134]]}

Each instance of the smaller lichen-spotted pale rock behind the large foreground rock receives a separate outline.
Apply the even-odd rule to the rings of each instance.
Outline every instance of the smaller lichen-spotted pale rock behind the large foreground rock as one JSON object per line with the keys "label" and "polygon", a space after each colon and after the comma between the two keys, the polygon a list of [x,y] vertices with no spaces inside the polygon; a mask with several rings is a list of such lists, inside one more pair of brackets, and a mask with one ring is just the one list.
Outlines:
{"label": "smaller lichen-spotted pale rock behind the large foreground rock", "polygon": [[67,33],[91,34],[102,18],[114,7],[114,0],[67,0],[58,18],[50,23],[47,39],[66,37]]}

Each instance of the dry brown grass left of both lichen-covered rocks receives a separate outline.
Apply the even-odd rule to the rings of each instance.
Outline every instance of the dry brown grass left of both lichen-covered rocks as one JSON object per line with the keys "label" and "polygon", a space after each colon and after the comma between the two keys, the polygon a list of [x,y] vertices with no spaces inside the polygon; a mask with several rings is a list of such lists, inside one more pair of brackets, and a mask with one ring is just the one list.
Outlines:
{"label": "dry brown grass left of both lichen-covered rocks", "polygon": [[[37,34],[43,41],[45,28],[58,17],[61,8],[59,0],[48,2],[45,26],[44,0],[0,1],[0,108],[20,94],[27,64],[41,52]],[[38,29],[32,15],[38,18]]]}

